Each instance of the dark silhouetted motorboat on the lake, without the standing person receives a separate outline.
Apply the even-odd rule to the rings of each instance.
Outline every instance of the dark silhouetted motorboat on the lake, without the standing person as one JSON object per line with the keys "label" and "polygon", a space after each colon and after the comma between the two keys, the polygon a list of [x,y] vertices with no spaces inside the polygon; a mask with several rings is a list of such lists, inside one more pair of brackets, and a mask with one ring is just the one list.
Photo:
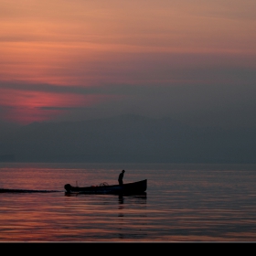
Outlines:
{"label": "dark silhouetted motorboat on the lake, without the standing person", "polygon": [[91,187],[72,187],[66,184],[64,188],[66,193],[81,193],[81,194],[122,194],[122,195],[136,195],[144,193],[147,187],[147,180],[140,180],[132,183],[125,183],[121,185],[108,185],[101,183],[100,186]]}

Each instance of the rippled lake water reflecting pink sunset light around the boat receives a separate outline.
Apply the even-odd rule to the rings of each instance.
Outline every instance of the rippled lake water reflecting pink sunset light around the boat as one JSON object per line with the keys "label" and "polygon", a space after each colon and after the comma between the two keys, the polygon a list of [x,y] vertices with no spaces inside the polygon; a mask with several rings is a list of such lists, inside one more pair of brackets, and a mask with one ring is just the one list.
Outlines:
{"label": "rippled lake water reflecting pink sunset light around the boat", "polygon": [[[64,185],[147,179],[145,195]],[[256,241],[256,165],[0,163],[0,242]]]}

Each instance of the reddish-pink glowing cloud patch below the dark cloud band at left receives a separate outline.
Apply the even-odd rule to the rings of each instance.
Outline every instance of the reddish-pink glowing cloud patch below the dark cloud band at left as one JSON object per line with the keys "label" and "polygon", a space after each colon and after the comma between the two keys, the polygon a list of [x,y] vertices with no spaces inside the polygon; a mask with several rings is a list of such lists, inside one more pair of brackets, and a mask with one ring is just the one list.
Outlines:
{"label": "reddish-pink glowing cloud patch below the dark cloud band at left", "polygon": [[51,93],[0,89],[1,118],[16,123],[42,122],[54,119],[69,109],[86,108],[109,100],[106,95]]}

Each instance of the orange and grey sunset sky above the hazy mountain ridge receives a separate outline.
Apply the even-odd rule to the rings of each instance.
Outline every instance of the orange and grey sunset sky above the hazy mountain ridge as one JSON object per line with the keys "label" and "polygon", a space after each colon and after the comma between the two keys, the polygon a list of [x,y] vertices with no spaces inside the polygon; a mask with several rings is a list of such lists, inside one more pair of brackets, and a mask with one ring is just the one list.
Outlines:
{"label": "orange and grey sunset sky above the hazy mountain ridge", "polygon": [[0,31],[1,122],[256,127],[255,0],[0,0]]}

